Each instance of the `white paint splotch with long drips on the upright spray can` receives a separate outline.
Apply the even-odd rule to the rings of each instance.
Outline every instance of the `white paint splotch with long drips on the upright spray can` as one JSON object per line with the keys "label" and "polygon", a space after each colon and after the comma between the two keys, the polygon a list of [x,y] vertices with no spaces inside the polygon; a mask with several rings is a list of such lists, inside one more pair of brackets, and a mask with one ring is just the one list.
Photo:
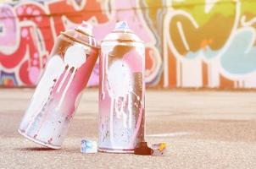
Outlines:
{"label": "white paint splotch with long drips on the upright spray can", "polygon": [[[109,135],[110,142],[114,144],[114,112],[117,118],[122,118],[123,127],[132,127],[131,95],[132,91],[131,70],[129,65],[122,60],[115,61],[109,68],[108,55],[103,55],[103,79],[102,79],[102,99],[105,98],[105,88],[110,97]],[[128,101],[127,101],[128,99]],[[125,105],[128,102],[127,111]],[[128,122],[127,122],[128,120]]]}

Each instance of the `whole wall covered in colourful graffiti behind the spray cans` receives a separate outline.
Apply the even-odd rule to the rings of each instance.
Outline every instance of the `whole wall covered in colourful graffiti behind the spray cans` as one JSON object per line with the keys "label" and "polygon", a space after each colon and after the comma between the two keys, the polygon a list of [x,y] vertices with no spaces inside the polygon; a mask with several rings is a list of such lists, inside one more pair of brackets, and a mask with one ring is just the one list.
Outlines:
{"label": "whole wall covered in colourful graffiti behind the spray cans", "polygon": [[[147,86],[256,88],[255,0],[47,0],[0,3],[0,85],[35,86],[58,34],[126,20],[146,44]],[[88,85],[98,83],[98,63]]]}

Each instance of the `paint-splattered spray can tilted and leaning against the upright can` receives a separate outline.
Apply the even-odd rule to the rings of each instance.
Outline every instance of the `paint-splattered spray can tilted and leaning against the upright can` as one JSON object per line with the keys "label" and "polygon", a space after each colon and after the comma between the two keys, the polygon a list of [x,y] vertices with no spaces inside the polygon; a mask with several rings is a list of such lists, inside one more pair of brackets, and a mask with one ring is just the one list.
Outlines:
{"label": "paint-splattered spray can tilted and leaning against the upright can", "polygon": [[19,134],[53,149],[61,147],[98,52],[92,25],[86,22],[58,35]]}

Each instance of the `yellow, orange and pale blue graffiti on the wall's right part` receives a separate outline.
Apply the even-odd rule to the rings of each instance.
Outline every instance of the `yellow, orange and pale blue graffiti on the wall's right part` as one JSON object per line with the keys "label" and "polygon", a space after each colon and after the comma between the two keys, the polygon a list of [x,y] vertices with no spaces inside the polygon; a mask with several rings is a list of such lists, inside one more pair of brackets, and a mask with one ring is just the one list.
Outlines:
{"label": "yellow, orange and pale blue graffiti on the wall's right part", "polygon": [[143,1],[164,87],[255,88],[255,1]]}

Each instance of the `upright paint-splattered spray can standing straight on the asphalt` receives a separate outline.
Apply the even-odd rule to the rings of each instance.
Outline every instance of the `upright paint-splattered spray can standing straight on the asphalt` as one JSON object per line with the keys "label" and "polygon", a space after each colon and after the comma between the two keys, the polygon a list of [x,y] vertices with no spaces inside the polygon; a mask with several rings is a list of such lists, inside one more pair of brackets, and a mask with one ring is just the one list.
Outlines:
{"label": "upright paint-splattered spray can standing straight on the asphalt", "polygon": [[144,141],[145,46],[126,22],[101,44],[98,150],[132,153]]}

